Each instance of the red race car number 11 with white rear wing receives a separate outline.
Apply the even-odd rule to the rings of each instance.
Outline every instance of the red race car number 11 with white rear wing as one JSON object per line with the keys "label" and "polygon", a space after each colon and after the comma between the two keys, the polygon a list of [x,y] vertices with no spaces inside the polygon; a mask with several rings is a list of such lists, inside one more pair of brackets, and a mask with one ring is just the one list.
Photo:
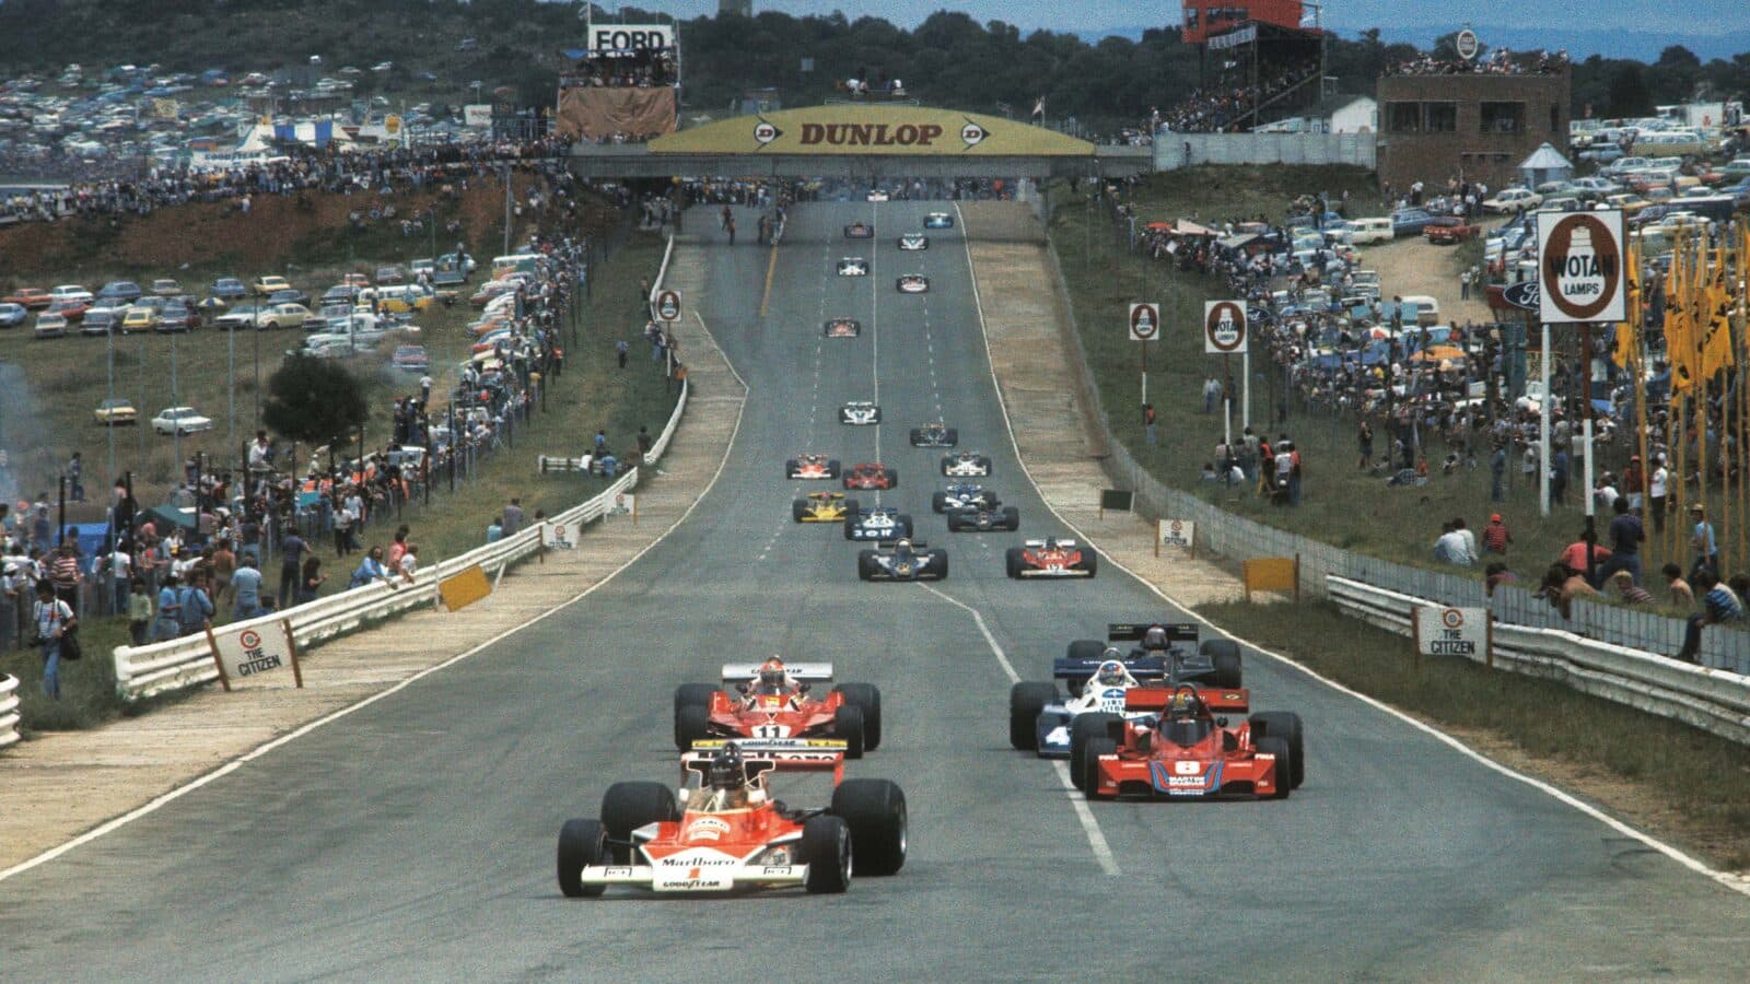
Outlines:
{"label": "red race car number 11 with white rear wing", "polygon": [[[816,697],[816,685],[831,690]],[[845,758],[880,746],[880,690],[833,685],[833,664],[726,664],[723,686],[682,683],[674,692],[674,744],[681,751],[712,737],[835,737]]]}

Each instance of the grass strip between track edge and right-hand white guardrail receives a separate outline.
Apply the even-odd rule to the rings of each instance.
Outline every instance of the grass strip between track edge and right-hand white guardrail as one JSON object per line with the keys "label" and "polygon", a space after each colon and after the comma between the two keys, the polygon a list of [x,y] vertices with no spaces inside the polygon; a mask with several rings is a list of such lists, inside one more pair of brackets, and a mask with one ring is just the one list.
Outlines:
{"label": "grass strip between track edge and right-hand white guardrail", "polygon": [[1197,613],[1718,865],[1750,867],[1750,758],[1740,744],[1468,660],[1423,658],[1418,669],[1409,639],[1328,602]]}

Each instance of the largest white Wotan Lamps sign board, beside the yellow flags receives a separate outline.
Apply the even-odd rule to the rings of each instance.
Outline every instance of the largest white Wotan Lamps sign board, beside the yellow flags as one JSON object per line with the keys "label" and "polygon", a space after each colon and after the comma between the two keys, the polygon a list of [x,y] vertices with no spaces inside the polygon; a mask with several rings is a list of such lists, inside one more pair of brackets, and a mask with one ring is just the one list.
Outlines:
{"label": "largest white Wotan Lamps sign board, beside the yellow flags", "polygon": [[1538,317],[1549,324],[1628,317],[1626,242],[1620,208],[1538,212]]}

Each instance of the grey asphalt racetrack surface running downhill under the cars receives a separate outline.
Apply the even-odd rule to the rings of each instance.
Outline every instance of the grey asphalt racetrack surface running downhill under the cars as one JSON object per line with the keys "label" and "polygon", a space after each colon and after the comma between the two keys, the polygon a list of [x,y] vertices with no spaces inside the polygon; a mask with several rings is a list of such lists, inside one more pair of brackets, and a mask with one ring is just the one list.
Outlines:
{"label": "grey asphalt racetrack surface running downhill under the cars", "polygon": [[[1307,727],[1286,802],[1082,807],[1057,767],[1012,751],[1006,664],[1046,678],[1071,637],[1186,615],[1115,567],[1004,578],[1004,546],[1066,531],[1003,431],[962,226],[896,249],[936,208],[952,210],[796,207],[763,319],[770,252],[710,243],[707,319],[751,397],[693,518],[558,616],[0,884],[0,975],[1741,979],[1743,896],[1251,651],[1256,707]],[[852,219],[877,236],[845,240]],[[836,277],[842,256],[870,275]],[[896,291],[910,271],[928,294]],[[840,315],[863,336],[822,338]],[[889,422],[840,425],[847,399]],[[906,431],[938,415],[994,459],[1020,536],[948,534],[929,511],[940,452]],[[814,450],[900,469],[880,499],[947,545],[940,592],[1001,657],[968,609],[859,583],[836,527],[791,522],[807,483],[784,459]],[[905,870],[844,896],[562,898],[560,823],[595,816],[616,779],[677,776],[674,686],[770,653],[882,688],[884,744],[849,774],[905,788]]]}

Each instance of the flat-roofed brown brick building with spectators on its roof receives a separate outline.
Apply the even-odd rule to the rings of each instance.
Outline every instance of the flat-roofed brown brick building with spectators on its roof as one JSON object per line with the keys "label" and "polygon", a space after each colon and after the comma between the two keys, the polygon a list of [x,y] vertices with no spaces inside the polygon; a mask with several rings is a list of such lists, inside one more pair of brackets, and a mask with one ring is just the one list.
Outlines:
{"label": "flat-roofed brown brick building with spectators on its roof", "polygon": [[1463,175],[1491,189],[1517,180],[1538,145],[1568,142],[1570,74],[1386,75],[1379,79],[1379,180],[1444,187]]}

